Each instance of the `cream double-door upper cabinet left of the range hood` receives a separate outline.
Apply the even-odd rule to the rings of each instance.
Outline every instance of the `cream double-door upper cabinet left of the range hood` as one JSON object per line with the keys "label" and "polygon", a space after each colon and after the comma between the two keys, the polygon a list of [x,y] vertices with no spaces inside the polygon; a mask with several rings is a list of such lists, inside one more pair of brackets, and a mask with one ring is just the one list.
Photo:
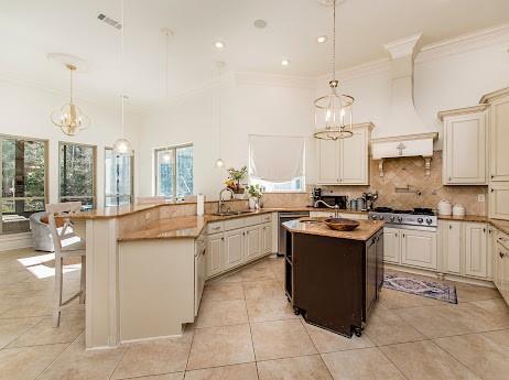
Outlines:
{"label": "cream double-door upper cabinet left of the range hood", "polygon": [[348,139],[317,140],[317,184],[369,185],[369,139],[372,123],[354,124]]}

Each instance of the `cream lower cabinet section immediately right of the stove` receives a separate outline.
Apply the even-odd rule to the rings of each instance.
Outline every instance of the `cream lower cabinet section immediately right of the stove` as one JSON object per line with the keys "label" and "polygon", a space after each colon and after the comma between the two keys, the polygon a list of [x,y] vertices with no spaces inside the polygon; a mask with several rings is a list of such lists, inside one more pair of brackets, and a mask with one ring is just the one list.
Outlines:
{"label": "cream lower cabinet section immediately right of the stove", "polygon": [[485,222],[441,220],[440,268],[443,273],[491,278],[489,227]]}

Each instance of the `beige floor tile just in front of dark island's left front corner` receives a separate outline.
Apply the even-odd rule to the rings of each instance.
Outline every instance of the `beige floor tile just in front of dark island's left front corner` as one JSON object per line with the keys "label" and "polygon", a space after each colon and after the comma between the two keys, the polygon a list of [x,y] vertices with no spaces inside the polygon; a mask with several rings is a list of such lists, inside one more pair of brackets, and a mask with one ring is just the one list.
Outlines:
{"label": "beige floor tile just in front of dark island's left front corner", "polygon": [[257,360],[317,354],[300,319],[251,324]]}

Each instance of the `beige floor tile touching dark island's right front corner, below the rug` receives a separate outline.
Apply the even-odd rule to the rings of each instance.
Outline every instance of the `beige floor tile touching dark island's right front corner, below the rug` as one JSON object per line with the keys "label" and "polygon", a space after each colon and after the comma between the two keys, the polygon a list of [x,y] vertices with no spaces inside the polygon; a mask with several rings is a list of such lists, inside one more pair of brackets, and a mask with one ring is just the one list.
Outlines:
{"label": "beige floor tile touching dark island's right front corner, below the rug", "polygon": [[365,334],[376,345],[423,340],[425,337],[393,311],[376,310],[368,319]]}

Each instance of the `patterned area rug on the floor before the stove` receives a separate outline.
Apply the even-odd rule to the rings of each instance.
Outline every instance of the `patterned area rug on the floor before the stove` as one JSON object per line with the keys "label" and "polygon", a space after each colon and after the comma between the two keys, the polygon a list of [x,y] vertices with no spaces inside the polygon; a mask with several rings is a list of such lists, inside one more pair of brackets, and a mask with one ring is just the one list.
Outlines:
{"label": "patterned area rug on the floor before the stove", "polygon": [[383,287],[457,304],[456,286],[405,275],[386,274]]}

